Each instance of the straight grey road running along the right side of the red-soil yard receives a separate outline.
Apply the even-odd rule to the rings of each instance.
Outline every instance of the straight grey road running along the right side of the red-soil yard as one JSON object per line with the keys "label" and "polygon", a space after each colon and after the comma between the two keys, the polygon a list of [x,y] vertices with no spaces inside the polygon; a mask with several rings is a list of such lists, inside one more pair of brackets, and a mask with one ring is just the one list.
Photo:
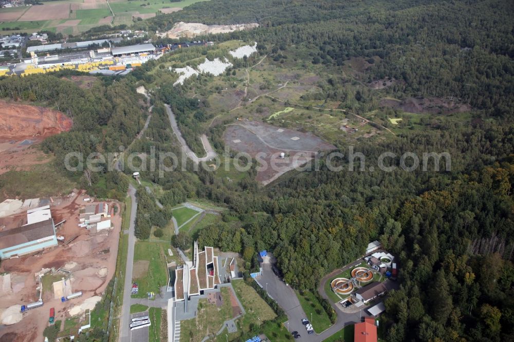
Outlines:
{"label": "straight grey road running along the right side of the red-soil yard", "polygon": [[[125,284],[123,288],[123,308],[121,311],[121,322],[120,322],[120,341],[130,342],[130,330],[128,325],[130,324],[130,306],[131,306],[131,289],[132,289],[132,267],[134,263],[134,245],[136,243],[136,236],[134,235],[134,225],[136,222],[137,202],[136,202],[136,189],[132,184],[128,186],[128,195],[132,199],[132,208],[130,212],[130,225],[128,228],[128,252],[127,252],[127,265],[125,269]],[[145,329],[138,329],[145,330]],[[148,329],[146,329],[148,332]],[[147,334],[148,338],[148,334]]]}

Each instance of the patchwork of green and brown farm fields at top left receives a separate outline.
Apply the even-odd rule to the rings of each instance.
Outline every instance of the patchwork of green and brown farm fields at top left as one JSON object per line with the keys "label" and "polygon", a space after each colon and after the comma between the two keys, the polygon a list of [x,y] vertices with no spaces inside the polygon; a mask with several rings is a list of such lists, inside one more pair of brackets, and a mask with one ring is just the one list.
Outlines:
{"label": "patchwork of green and brown farm fields at top left", "polygon": [[0,9],[0,30],[3,34],[13,32],[32,33],[40,30],[79,34],[100,25],[130,25],[134,18],[155,16],[159,11],[169,13],[199,1],[179,2],[114,1],[88,2],[87,0],[63,0],[45,2],[43,5]]}

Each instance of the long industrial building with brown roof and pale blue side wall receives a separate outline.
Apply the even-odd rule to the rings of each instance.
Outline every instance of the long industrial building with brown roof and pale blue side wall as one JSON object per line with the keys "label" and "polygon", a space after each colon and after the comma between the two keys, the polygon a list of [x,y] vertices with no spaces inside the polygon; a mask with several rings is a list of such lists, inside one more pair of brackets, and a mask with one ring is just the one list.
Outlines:
{"label": "long industrial building with brown roof and pale blue side wall", "polygon": [[2,259],[35,253],[53,246],[57,246],[57,237],[52,218],[0,232]]}

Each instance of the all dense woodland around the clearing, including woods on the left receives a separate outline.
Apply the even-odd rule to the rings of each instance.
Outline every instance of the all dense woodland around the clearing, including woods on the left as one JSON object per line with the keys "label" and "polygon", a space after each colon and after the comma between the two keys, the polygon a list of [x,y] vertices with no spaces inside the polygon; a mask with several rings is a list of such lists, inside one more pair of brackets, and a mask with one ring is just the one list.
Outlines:
{"label": "all dense woodland around the clearing, including woods on the left", "polygon": [[[229,184],[214,173],[194,170],[190,161],[183,170],[180,165],[163,174],[143,171],[142,178],[162,189],[157,199],[163,208],[143,187],[138,189],[139,238],[148,238],[152,226],[165,225],[177,203],[207,198],[226,205],[230,213],[199,232],[200,244],[241,252],[247,270],[257,267],[256,251],[271,250],[288,283],[314,291],[325,274],[355,260],[366,244],[378,239],[398,257],[400,269],[399,290],[386,300],[386,340],[511,340],[514,3],[211,0],[135,25],[164,30],[177,21],[259,23],[259,29],[205,38],[257,41],[260,52],[273,59],[295,46],[306,52],[305,65],[340,70],[323,80],[316,99],[344,101],[347,87],[365,88],[358,101],[369,110],[376,106],[369,82],[392,78],[398,82],[382,90],[386,96],[463,102],[472,107],[474,120],[432,129],[427,125],[426,130],[406,130],[355,146],[366,156],[366,165],[376,165],[386,151],[397,156],[447,152],[450,171],[435,172],[430,166],[427,172],[332,172],[322,164],[319,170],[290,172],[267,187],[249,177]],[[373,58],[373,63],[348,80],[343,64],[356,57]],[[91,89],[51,75],[4,79],[0,96],[46,102],[74,119],[74,129],[44,143],[59,163],[67,151],[128,146],[144,122],[135,86],[154,82],[151,72],[159,63],[147,63],[122,80],[100,80]],[[190,146],[199,148],[194,137],[199,124],[209,119],[203,110],[208,104],[188,99],[171,84],[157,87],[149,128],[129,151],[178,152],[163,103],[172,106]],[[208,132],[219,150],[223,124]],[[346,153],[344,142],[338,147]],[[399,157],[389,162],[398,165]],[[346,159],[336,163],[348,169]],[[128,184],[126,177],[107,171],[101,179],[82,177],[93,191],[112,188],[119,196]]]}

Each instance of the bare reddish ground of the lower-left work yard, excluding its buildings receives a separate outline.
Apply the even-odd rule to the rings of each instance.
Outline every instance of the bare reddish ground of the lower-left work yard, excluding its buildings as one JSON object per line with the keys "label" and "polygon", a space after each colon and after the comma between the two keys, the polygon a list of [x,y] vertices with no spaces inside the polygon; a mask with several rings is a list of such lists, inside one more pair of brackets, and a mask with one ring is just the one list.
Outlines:
{"label": "bare reddish ground of the lower-left work yard, excluding its buildings", "polygon": [[[74,280],[71,282],[71,286],[74,291],[83,291],[82,297],[62,303],[60,299],[53,298],[52,291],[43,292],[45,305],[42,308],[29,310],[24,314],[22,321],[17,324],[4,327],[0,331],[0,341],[43,340],[43,330],[48,326],[49,308],[55,308],[57,319],[64,321],[69,317],[68,310],[70,308],[81,305],[85,299],[92,296],[101,296],[109,280],[114,276],[121,229],[120,212],[118,210],[118,214],[111,217],[114,224],[112,231],[100,233],[87,231],[78,226],[80,207],[86,204],[83,201],[85,196],[84,192],[77,194],[76,191],[73,196],[54,198],[54,202],[50,205],[54,222],[58,223],[66,219],[57,233],[63,235],[65,241],[78,236],[74,241],[66,246],[59,243],[59,246],[35,255],[2,261],[0,272],[10,272],[13,280],[11,292],[0,292],[0,296],[2,296],[0,310],[15,304],[21,305],[37,300],[34,273],[39,272],[42,268],[58,269],[71,261],[77,263],[72,269]],[[109,212],[113,205],[118,204],[109,203]],[[25,215],[25,213],[17,215],[18,220]],[[107,236],[105,236],[106,234]],[[107,268],[107,276],[102,277],[96,273],[101,268]]]}

